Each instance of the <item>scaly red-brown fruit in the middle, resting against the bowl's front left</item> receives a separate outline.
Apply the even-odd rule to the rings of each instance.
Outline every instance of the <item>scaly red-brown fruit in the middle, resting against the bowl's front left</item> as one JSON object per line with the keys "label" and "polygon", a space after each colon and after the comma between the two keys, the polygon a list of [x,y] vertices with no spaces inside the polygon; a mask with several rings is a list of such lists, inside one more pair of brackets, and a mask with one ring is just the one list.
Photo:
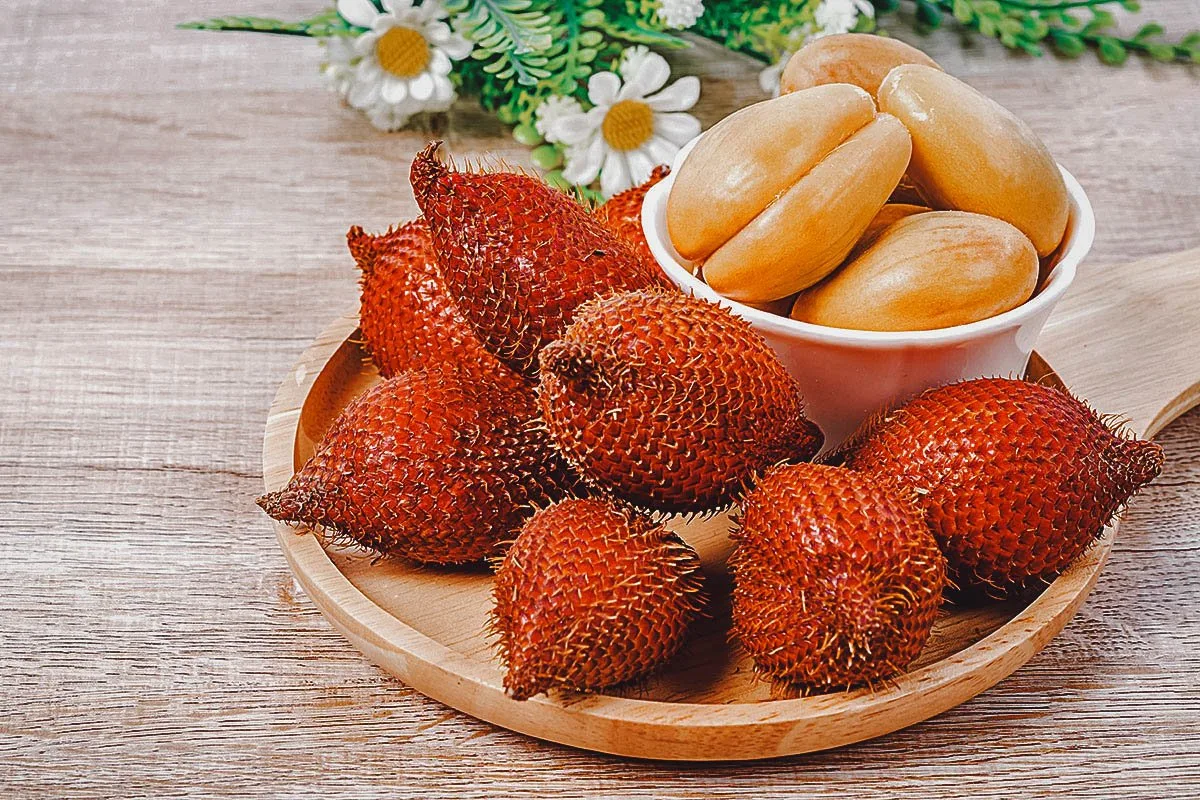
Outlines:
{"label": "scaly red-brown fruit in the middle, resting against the bowl's front left", "polygon": [[582,306],[541,353],[554,445],[602,492],[698,512],[737,500],[822,437],[796,380],[748,323],[697,297],[631,291]]}

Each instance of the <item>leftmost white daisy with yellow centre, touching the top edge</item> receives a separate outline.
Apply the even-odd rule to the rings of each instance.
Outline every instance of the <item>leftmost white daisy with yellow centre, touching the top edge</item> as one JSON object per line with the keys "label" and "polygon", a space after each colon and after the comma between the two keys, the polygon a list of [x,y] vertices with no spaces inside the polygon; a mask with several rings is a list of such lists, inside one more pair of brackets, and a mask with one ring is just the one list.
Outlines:
{"label": "leftmost white daisy with yellow centre, touching the top edge", "polygon": [[451,61],[467,58],[470,42],[450,30],[438,0],[419,6],[383,0],[383,7],[380,12],[371,0],[337,0],[346,22],[371,29],[354,40],[358,62],[346,98],[377,126],[396,130],[413,114],[450,108]]}

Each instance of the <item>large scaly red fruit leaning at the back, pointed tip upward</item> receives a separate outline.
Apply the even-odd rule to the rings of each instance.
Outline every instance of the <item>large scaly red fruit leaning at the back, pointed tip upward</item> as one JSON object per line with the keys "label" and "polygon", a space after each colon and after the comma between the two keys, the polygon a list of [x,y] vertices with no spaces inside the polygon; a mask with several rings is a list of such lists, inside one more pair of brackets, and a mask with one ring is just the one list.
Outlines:
{"label": "large scaly red fruit leaning at the back, pointed tip upward", "polygon": [[437,160],[438,144],[413,160],[412,184],[442,278],[484,345],[517,372],[536,372],[538,351],[583,301],[666,285],[562,192],[529,175],[455,172]]}

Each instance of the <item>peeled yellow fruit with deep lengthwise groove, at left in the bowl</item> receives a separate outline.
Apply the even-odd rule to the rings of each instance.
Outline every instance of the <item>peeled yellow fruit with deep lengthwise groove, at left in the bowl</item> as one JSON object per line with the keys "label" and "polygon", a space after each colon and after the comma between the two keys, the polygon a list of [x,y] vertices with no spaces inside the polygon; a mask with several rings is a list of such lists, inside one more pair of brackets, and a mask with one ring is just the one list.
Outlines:
{"label": "peeled yellow fruit with deep lengthwise groove, at left in the bowl", "polygon": [[857,86],[756,103],[709,130],[667,197],[667,233],[720,294],[769,302],[832,272],[904,175],[911,144]]}

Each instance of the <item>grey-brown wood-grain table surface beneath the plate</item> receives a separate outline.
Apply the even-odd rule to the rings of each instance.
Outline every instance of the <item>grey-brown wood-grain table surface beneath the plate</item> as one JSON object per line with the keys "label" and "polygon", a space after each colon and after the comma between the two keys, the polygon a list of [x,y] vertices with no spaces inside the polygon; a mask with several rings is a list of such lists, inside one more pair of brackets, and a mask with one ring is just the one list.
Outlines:
{"label": "grey-brown wood-grain table surface beneath the plate", "polygon": [[[1200,26],[1198,0],[1147,5]],[[1162,434],[1166,470],[1062,636],[883,739],[629,762],[493,728],[368,664],[299,593],[253,498],[277,383],[355,302],[344,231],[414,213],[426,136],[341,108],[311,42],[172,29],[313,7],[0,11],[0,795],[1200,795],[1200,413]],[[1085,269],[1200,245],[1200,68],[923,46],[1087,187]],[[702,44],[676,61],[703,70],[706,124],[760,97],[749,60]],[[469,103],[451,125],[452,152],[527,163]]]}

